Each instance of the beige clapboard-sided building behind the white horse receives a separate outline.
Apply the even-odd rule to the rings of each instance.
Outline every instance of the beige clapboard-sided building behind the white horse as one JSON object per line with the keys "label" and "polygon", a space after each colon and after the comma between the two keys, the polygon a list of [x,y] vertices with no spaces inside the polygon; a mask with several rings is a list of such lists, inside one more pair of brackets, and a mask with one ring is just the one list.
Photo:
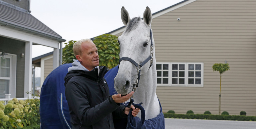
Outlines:
{"label": "beige clapboard-sided building behind the white horse", "polygon": [[[218,114],[220,74],[212,65],[228,63],[221,112],[256,115],[255,8],[251,0],[184,0],[152,14],[163,112]],[[124,30],[109,33],[120,36]]]}

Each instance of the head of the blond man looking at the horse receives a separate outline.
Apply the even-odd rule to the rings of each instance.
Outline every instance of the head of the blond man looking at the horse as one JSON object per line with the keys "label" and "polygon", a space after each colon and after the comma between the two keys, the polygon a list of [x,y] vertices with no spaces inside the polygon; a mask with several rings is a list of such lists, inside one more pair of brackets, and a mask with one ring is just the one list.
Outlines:
{"label": "head of the blond man looking at the horse", "polygon": [[89,71],[99,65],[98,49],[93,42],[82,43],[81,52],[81,55],[76,55],[76,59]]}

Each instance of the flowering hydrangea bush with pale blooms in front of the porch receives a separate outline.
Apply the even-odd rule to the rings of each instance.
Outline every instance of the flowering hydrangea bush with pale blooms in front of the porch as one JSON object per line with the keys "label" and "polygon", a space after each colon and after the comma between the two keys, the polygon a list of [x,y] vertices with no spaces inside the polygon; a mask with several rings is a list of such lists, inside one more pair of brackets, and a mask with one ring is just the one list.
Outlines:
{"label": "flowering hydrangea bush with pale blooms in front of the porch", "polygon": [[39,99],[0,102],[0,129],[40,128]]}

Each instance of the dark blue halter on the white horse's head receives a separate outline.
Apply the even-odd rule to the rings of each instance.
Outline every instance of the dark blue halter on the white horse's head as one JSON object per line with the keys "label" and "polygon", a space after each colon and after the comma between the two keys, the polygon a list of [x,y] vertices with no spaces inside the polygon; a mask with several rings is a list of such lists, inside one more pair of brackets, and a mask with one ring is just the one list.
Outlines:
{"label": "dark blue halter on the white horse's head", "polygon": [[[142,67],[143,65],[145,65],[148,61],[150,61],[149,68],[153,65],[153,41],[152,41],[152,32],[151,32],[151,29],[150,29],[150,40],[151,40],[150,55],[149,55],[149,57],[148,57],[145,61],[143,61],[141,64],[136,63],[134,60],[132,60],[132,59],[129,58],[129,57],[122,57],[122,58],[119,59],[118,67],[119,67],[121,61],[126,60],[126,61],[131,62],[131,63],[132,63],[133,65],[135,65],[136,68],[137,68],[137,71],[138,71],[138,78],[137,78],[135,84],[133,84],[133,86],[132,86],[132,87],[133,87],[133,91],[135,91],[135,89],[138,87],[138,84],[139,84],[139,81],[140,81],[140,71],[141,71],[141,67]],[[135,85],[136,85],[136,87],[135,87]]]}

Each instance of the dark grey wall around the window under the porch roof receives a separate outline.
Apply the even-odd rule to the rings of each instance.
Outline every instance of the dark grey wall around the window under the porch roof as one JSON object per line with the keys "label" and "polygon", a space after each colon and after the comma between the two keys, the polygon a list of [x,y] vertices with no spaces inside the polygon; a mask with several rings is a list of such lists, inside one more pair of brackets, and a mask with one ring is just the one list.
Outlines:
{"label": "dark grey wall around the window under the porch roof", "polygon": [[21,57],[21,54],[25,54],[25,42],[0,36],[0,49],[5,53],[17,55],[16,98],[23,98],[25,57]]}

